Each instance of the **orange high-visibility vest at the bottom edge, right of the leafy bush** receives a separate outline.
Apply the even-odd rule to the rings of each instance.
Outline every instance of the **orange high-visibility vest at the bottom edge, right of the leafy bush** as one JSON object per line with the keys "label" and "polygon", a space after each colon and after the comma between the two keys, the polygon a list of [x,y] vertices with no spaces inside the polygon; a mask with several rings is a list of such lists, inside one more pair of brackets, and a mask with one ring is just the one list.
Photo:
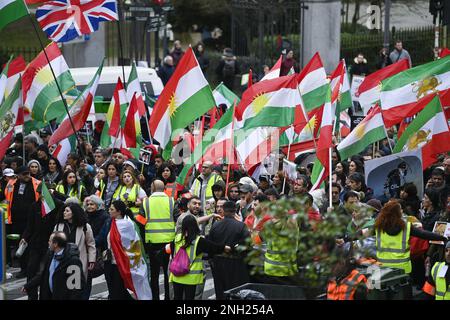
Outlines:
{"label": "orange high-visibility vest at the bottom edge, right of the leafy bush", "polygon": [[355,300],[355,292],[358,284],[367,282],[367,278],[353,270],[344,280],[339,284],[335,280],[328,283],[327,299],[328,300]]}

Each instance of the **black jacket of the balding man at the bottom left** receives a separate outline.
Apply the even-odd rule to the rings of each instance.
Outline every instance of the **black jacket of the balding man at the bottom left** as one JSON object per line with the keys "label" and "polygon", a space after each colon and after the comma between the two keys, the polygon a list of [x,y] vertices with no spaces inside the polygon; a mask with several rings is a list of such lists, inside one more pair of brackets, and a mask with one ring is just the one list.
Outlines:
{"label": "black jacket of the balding man at the bottom left", "polygon": [[[73,243],[68,243],[64,249],[61,261],[53,273],[53,293],[50,291],[49,276],[50,264],[53,260],[53,252],[49,252],[45,260],[44,268],[32,278],[26,285],[25,290],[40,286],[40,300],[81,300],[81,294],[86,286],[86,279],[83,273],[83,265],[80,260],[78,247]],[[78,288],[70,288],[67,284],[74,284],[77,272],[71,271],[69,267],[78,267],[81,277]],[[76,269],[76,268],[75,268]]]}

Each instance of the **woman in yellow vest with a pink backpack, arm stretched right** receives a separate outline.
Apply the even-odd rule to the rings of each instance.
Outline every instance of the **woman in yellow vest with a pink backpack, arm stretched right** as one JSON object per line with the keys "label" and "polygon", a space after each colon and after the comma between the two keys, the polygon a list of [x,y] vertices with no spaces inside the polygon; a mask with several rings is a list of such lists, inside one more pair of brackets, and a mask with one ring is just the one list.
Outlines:
{"label": "woman in yellow vest with a pink backpack, arm stretched right", "polygon": [[170,273],[170,282],[173,283],[175,300],[194,300],[195,289],[204,281],[203,253],[209,255],[230,252],[229,246],[211,242],[200,236],[197,219],[187,215],[181,223],[181,233],[175,237],[175,255],[183,248],[189,256],[189,273],[175,276]]}

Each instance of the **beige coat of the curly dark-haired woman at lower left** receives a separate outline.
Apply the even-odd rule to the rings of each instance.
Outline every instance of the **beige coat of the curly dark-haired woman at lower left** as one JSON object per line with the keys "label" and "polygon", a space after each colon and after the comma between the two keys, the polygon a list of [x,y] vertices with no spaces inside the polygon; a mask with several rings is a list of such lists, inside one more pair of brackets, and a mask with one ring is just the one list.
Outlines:
{"label": "beige coat of the curly dark-haired woman at lower left", "polygon": [[[86,223],[86,233],[84,227],[78,227],[75,235],[76,245],[80,251],[80,260],[83,264],[83,272],[87,277],[88,263],[95,262],[97,252],[95,250],[95,239],[92,233],[92,228],[89,223]],[[54,231],[64,231],[64,223],[59,223],[55,226]]]}

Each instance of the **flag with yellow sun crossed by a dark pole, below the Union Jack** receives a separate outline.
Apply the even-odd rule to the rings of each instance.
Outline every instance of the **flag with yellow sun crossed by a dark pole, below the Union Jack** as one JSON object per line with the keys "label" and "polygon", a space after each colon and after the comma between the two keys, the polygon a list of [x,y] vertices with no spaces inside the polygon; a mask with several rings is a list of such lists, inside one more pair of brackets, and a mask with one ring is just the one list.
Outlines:
{"label": "flag with yellow sun crossed by a dark pole, below the Union Jack", "polygon": [[[45,51],[61,91],[65,94],[75,87],[69,66],[56,43],[50,43]],[[66,109],[43,51],[27,66],[22,81],[24,105],[33,120],[50,121],[64,117]]]}

